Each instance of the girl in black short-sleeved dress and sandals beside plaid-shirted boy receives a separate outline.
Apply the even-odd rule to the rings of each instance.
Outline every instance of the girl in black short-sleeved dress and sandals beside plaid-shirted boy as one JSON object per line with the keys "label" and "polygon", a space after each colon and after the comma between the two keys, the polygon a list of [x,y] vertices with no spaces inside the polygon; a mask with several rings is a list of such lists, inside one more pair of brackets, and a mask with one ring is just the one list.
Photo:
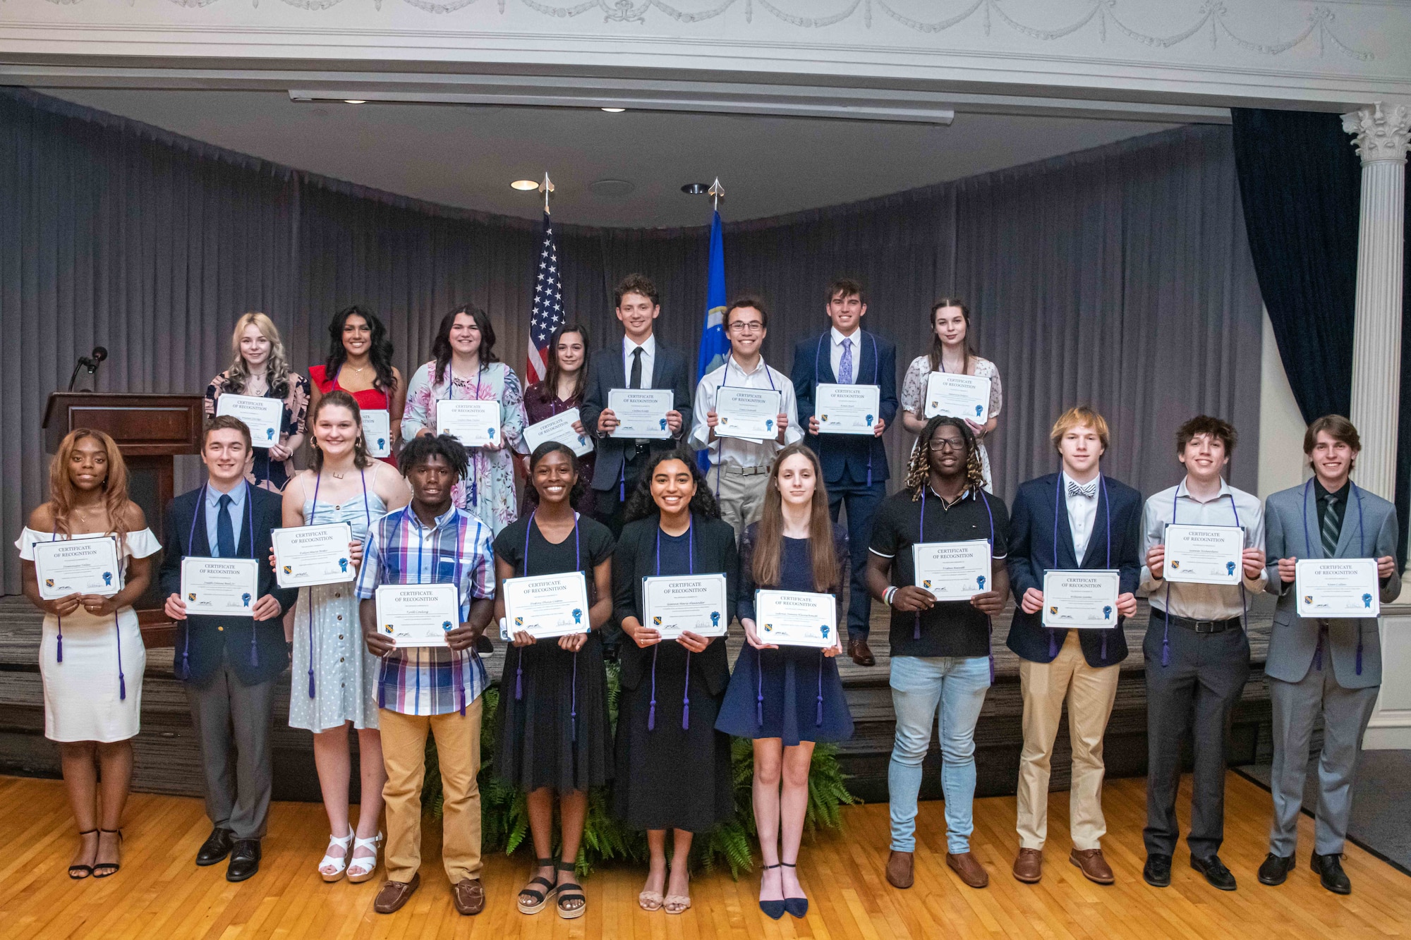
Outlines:
{"label": "girl in black short-sleeved dress and sandals beside plaid-shirted boy", "polygon": [[[504,582],[583,572],[588,582],[587,634],[536,641],[514,634],[499,680],[497,773],[529,795],[535,875],[519,892],[519,910],[538,913],[557,892],[559,916],[580,917],[587,899],[573,879],[588,788],[611,776],[607,672],[598,628],[612,615],[612,534],[580,517],[574,504],[587,483],[573,450],[539,445],[529,459],[532,512],[495,538],[495,615],[505,615]],[[563,850],[552,857],[553,795],[559,793]]]}

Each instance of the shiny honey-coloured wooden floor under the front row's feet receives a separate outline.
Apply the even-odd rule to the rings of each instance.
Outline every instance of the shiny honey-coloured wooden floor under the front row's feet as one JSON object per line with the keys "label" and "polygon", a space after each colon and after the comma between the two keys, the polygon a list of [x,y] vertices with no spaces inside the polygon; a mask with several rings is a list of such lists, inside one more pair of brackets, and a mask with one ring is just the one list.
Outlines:
{"label": "shiny honey-coloured wooden floor under the front row's feet", "polygon": [[[1188,783],[1188,778],[1187,778]],[[1237,940],[1288,937],[1411,936],[1411,878],[1367,852],[1348,847],[1353,893],[1339,898],[1308,869],[1312,820],[1300,823],[1300,865],[1281,888],[1254,878],[1267,845],[1268,795],[1230,773],[1226,783],[1226,843],[1221,852],[1239,878],[1233,893],[1215,891],[1187,864],[1184,847],[1171,888],[1141,881],[1144,789],[1139,779],[1113,781],[1105,807],[1110,828],[1106,857],[1118,884],[1101,888],[1068,864],[1067,793],[1050,797],[1050,851],[1044,881],[1022,885],[1009,874],[1017,841],[1012,797],[976,800],[975,851],[991,886],[965,888],[945,868],[944,806],[921,805],[917,882],[896,891],[883,878],[885,805],[849,807],[844,831],[806,840],[800,878],[811,895],[810,915],[772,922],[755,903],[758,881],[714,872],[694,882],[694,908],[682,916],[645,913],[636,906],[643,872],[601,869],[587,879],[588,913],[559,920],[552,912],[526,917],[514,893],[526,876],[528,854],[488,860],[488,905],[460,917],[450,903],[429,821],[422,889],[392,916],[373,913],[378,881],[325,885],[316,865],[327,836],[319,805],[275,803],[264,865],[255,878],[231,885],[224,867],[196,868],[206,837],[195,799],[134,795],[127,813],[123,869],[103,881],[69,881],[73,826],[58,781],[0,778],[0,937],[103,937],[207,940],[237,937],[1044,937],[1123,940],[1184,937]],[[1363,795],[1363,799],[1371,795]],[[1188,820],[1182,788],[1181,824]]]}

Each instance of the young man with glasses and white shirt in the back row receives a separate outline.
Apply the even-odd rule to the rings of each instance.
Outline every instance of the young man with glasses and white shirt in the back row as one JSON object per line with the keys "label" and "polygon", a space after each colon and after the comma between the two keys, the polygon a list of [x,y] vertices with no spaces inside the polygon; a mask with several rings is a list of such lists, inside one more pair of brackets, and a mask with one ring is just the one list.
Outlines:
{"label": "young man with glasses and white shirt in the back row", "polygon": [[[725,335],[729,356],[725,363],[707,373],[696,385],[694,425],[690,443],[710,454],[706,480],[720,502],[720,517],[735,529],[735,538],[759,518],[769,483],[769,466],[785,445],[803,440],[799,428],[799,405],[793,382],[777,368],[765,364],[759,347],[769,332],[769,311],[762,301],[745,296],[725,311]],[[762,439],[720,436],[721,416],[717,401],[725,388],[749,388],[779,392],[779,414],[775,415],[776,433]],[[729,415],[727,415],[727,419]]]}

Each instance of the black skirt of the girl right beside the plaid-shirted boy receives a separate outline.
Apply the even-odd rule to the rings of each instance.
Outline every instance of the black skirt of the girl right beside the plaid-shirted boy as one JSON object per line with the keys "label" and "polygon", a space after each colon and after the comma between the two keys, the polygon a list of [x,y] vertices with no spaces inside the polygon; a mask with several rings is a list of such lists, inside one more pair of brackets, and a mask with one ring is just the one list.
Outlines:
{"label": "black skirt of the girl right beside the plaid-shirted boy", "polygon": [[495,775],[521,790],[560,793],[601,786],[612,776],[602,639],[588,634],[577,653],[557,639],[511,646],[499,679]]}

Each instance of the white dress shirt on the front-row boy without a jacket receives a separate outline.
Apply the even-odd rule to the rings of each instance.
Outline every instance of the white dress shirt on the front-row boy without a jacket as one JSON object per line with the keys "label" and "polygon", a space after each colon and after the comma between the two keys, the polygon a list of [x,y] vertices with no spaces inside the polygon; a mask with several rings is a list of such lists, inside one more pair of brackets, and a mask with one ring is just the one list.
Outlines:
{"label": "white dress shirt on the front-row boy without a jacket", "polygon": [[[1233,505],[1230,501],[1233,500]],[[1175,519],[1171,511],[1175,510]],[[1151,607],[1165,610],[1167,587],[1171,589],[1171,610],[1177,617],[1194,620],[1229,620],[1245,614],[1245,597],[1239,584],[1188,584],[1171,583],[1151,576],[1146,566],[1147,552],[1165,542],[1165,526],[1171,522],[1182,525],[1235,525],[1239,512],[1240,528],[1245,529],[1245,548],[1264,548],[1264,505],[1259,497],[1236,490],[1221,480],[1221,491],[1213,500],[1201,502],[1189,494],[1182,478],[1174,487],[1167,487],[1146,501],[1141,512],[1141,587]],[[1260,569],[1259,577],[1246,577],[1245,590],[1264,590],[1268,574]]]}

